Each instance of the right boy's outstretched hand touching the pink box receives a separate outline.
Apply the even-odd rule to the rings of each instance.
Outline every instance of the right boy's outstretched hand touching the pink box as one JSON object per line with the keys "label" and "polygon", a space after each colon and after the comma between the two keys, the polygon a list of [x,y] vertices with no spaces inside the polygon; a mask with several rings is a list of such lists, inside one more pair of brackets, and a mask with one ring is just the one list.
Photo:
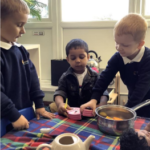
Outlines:
{"label": "right boy's outstretched hand touching the pink box", "polygon": [[87,107],[90,107],[93,110],[93,115],[95,116],[96,104],[97,104],[97,100],[92,99],[89,102],[81,105],[80,106],[81,113],[83,112],[84,109],[86,109]]}

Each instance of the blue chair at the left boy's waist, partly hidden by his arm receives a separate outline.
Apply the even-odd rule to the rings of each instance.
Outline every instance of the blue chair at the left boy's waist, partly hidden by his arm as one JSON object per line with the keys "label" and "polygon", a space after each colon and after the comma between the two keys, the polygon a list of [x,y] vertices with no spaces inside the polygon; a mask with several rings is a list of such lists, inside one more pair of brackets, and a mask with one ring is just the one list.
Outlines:
{"label": "blue chair at the left boy's waist, partly hidden by his arm", "polygon": [[[35,113],[32,107],[21,109],[19,110],[19,112],[28,121],[35,118]],[[5,135],[9,130],[13,129],[11,122],[5,118],[1,118],[0,123],[1,123],[1,137]]]}

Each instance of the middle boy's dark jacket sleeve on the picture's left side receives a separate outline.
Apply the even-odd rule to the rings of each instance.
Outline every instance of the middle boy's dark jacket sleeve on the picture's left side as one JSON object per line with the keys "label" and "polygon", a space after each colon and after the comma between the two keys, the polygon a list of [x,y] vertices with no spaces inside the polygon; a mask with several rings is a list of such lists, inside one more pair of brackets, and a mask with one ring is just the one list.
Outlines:
{"label": "middle boy's dark jacket sleeve on the picture's left side", "polygon": [[54,100],[56,96],[62,96],[64,99],[64,102],[66,101],[67,98],[67,84],[66,84],[66,73],[63,73],[63,75],[60,77],[58,81],[58,89],[54,93]]}

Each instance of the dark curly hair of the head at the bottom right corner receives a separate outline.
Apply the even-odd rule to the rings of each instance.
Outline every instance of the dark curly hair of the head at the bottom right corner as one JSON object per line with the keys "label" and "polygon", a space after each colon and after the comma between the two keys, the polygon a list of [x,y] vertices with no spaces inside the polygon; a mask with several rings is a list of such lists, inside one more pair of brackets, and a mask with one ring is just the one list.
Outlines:
{"label": "dark curly hair of the head at the bottom right corner", "polygon": [[145,137],[139,139],[134,129],[129,129],[120,136],[120,150],[150,150]]}

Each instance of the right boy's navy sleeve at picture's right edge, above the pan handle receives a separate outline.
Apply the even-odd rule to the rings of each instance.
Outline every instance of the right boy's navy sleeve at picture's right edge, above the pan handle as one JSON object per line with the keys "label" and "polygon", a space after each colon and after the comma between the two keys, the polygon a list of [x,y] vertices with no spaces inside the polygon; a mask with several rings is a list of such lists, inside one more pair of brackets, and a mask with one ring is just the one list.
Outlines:
{"label": "right boy's navy sleeve at picture's right edge, above the pan handle", "polygon": [[[138,74],[138,81],[132,95],[126,104],[127,107],[133,107],[139,104],[150,90],[150,59],[144,61]],[[145,99],[146,100],[146,99]]]}

